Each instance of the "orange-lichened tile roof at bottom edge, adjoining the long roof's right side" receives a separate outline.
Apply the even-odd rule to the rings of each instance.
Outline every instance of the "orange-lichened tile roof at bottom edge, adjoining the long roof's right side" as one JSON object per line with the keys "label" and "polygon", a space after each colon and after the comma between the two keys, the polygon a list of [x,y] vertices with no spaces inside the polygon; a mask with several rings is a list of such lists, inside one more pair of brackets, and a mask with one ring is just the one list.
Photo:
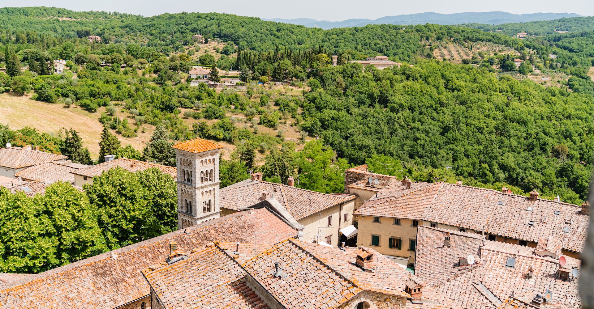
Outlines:
{"label": "orange-lichened tile roof at bottom edge, adjoining the long roof's right side", "polygon": [[165,308],[268,308],[247,286],[244,270],[217,246],[192,250],[187,259],[143,274]]}

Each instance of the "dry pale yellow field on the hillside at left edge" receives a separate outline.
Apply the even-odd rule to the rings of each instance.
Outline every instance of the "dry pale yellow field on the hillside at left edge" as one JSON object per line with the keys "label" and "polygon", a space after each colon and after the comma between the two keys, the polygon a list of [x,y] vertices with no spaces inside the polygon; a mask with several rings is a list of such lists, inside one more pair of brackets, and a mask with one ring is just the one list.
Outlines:
{"label": "dry pale yellow field on the hillside at left edge", "polygon": [[[91,157],[97,158],[99,153],[99,140],[103,126],[99,119],[100,109],[97,113],[74,107],[64,108],[62,104],[48,104],[30,100],[28,97],[18,97],[9,94],[0,94],[0,123],[10,126],[11,129],[21,129],[25,126],[36,128],[39,132],[59,135],[62,128],[72,128],[80,133],[84,145],[89,147]],[[121,114],[121,117],[124,116]],[[134,123],[134,120],[131,121]],[[145,133],[138,131],[135,138],[124,138],[117,135],[122,146],[131,144],[134,148],[142,150],[154,131],[154,127],[143,125]],[[115,133],[112,131],[112,133]]]}

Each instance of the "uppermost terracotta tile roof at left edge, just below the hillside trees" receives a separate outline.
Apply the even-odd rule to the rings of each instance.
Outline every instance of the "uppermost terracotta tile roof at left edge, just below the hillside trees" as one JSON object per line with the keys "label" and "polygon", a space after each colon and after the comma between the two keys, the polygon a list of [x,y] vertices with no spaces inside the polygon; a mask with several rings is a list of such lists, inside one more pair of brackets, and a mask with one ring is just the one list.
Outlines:
{"label": "uppermost terracotta tile roof at left edge, just below the hillside trees", "polygon": [[65,155],[51,154],[49,152],[24,150],[20,147],[0,148],[0,166],[8,168],[21,168],[50,161],[64,160]]}

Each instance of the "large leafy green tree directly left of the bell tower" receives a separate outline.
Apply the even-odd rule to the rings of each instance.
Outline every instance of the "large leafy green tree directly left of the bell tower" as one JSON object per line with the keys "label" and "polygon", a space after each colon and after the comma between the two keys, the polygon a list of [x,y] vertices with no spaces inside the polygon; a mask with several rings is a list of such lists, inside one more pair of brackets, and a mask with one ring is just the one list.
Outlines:
{"label": "large leafy green tree directly left of the bell tower", "polygon": [[116,167],[84,185],[110,249],[175,230],[175,188],[173,177],[157,168],[132,173]]}

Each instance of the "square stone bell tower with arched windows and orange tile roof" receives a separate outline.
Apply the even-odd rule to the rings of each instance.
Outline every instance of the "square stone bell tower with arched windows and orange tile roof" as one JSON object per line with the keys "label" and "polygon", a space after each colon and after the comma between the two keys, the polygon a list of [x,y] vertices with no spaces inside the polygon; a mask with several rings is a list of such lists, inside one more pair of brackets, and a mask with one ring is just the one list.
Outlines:
{"label": "square stone bell tower with arched windows and orange tile roof", "polygon": [[195,138],[173,148],[178,168],[178,228],[219,218],[219,155],[223,146]]}

